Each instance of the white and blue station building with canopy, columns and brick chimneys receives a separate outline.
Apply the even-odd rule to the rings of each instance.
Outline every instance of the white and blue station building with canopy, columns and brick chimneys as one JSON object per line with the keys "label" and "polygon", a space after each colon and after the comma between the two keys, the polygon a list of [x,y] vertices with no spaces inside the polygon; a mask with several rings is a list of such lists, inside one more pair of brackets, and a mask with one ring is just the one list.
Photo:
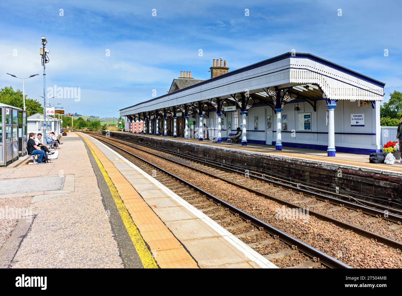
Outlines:
{"label": "white and blue station building with canopy, columns and brick chimneys", "polygon": [[[369,154],[381,151],[385,83],[312,54],[288,52],[211,78],[181,72],[169,91],[120,110],[134,133]],[[204,125],[205,124],[205,125]]]}

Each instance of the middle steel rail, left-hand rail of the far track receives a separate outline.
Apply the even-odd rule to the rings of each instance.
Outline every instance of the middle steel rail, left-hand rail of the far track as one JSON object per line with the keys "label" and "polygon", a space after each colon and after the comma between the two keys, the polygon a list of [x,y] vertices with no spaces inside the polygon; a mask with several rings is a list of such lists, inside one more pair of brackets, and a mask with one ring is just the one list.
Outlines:
{"label": "middle steel rail, left-hand rail of the far track", "polygon": [[[98,135],[98,136],[99,136],[99,135]],[[109,137],[106,137],[106,138],[109,138]],[[113,138],[114,138],[114,137],[113,137]],[[116,138],[116,139],[119,139],[119,138]],[[112,140],[113,140],[113,139],[112,139]],[[124,140],[124,139],[119,139],[119,140],[126,141],[126,140]],[[121,142],[116,141],[116,140],[113,140],[113,141],[115,141],[115,142],[117,142],[117,143],[121,143]],[[131,141],[127,141],[127,142],[132,143]],[[200,173],[202,173],[202,174],[206,174],[206,175],[211,176],[211,177],[213,177],[213,178],[217,178],[217,179],[222,180],[222,181],[224,181],[224,182],[227,182],[227,183],[229,183],[229,184],[231,184],[231,185],[233,185],[233,186],[237,186],[237,187],[239,187],[239,188],[242,188],[242,189],[244,189],[244,190],[247,190],[247,191],[249,191],[249,192],[252,192],[252,193],[254,193],[254,194],[256,194],[256,195],[262,196],[262,197],[264,197],[264,198],[268,198],[268,199],[275,200],[275,201],[277,201],[278,203],[281,203],[281,204],[283,204],[283,205],[285,205],[285,206],[287,206],[287,207],[290,207],[290,208],[300,208],[300,205],[296,205],[296,204],[294,204],[294,203],[291,203],[291,202],[288,202],[288,201],[284,201],[283,199],[279,199],[279,198],[277,198],[277,197],[273,197],[273,196],[268,195],[268,194],[266,194],[266,193],[262,193],[262,192],[260,192],[260,191],[258,191],[258,190],[253,189],[253,188],[250,188],[250,187],[247,187],[247,186],[244,186],[244,185],[241,185],[241,184],[238,184],[238,183],[235,183],[235,182],[226,180],[226,179],[224,179],[224,178],[222,178],[222,177],[219,177],[219,176],[216,176],[216,175],[211,174],[211,173],[209,173],[209,172],[205,172],[205,171],[203,171],[203,170],[201,170],[201,169],[194,168],[194,167],[192,167],[192,166],[183,164],[183,163],[181,163],[181,162],[179,162],[179,161],[176,161],[176,160],[174,160],[174,159],[169,159],[168,157],[165,157],[165,156],[163,156],[163,155],[157,155],[157,154],[152,153],[152,152],[150,152],[150,151],[146,151],[146,150],[143,150],[143,149],[140,149],[140,148],[137,148],[137,147],[132,147],[132,146],[126,144],[126,143],[121,143],[121,144],[126,145],[126,146],[129,146],[129,147],[131,147],[131,148],[139,149],[140,151],[143,151],[143,152],[145,152],[145,153],[151,153],[152,155],[155,155],[155,156],[157,156],[157,157],[161,157],[162,159],[166,159],[166,160],[168,160],[168,161],[172,161],[172,162],[174,162],[175,164],[178,164],[178,165],[181,165],[181,166],[186,166],[187,168],[190,168],[190,169],[195,170],[195,171],[197,171],[197,172],[200,172]],[[134,144],[134,145],[137,145],[137,143],[133,143],[133,144]],[[314,196],[312,196],[312,197],[314,197]],[[373,239],[373,240],[375,240],[375,241],[377,241],[377,242],[381,242],[381,243],[383,243],[383,244],[386,244],[386,245],[388,245],[388,246],[390,246],[390,247],[392,247],[392,248],[402,249],[402,243],[401,243],[401,242],[398,242],[398,241],[396,241],[396,240],[392,240],[392,239],[390,239],[390,238],[387,238],[387,237],[385,237],[385,236],[381,236],[381,235],[376,234],[376,233],[374,233],[374,232],[371,232],[371,231],[369,231],[369,230],[365,230],[364,228],[360,228],[360,227],[358,227],[358,226],[355,226],[355,225],[352,225],[352,224],[349,224],[349,223],[340,221],[340,220],[338,220],[338,219],[335,219],[335,218],[333,218],[333,217],[330,217],[330,216],[328,216],[328,215],[324,215],[324,214],[319,213],[319,212],[316,212],[316,211],[312,211],[312,210],[310,210],[310,209],[301,208],[301,210],[304,211],[304,212],[308,211],[308,213],[309,213],[310,215],[314,215],[314,216],[316,216],[316,217],[317,217],[318,219],[320,219],[320,220],[333,223],[333,224],[335,224],[336,226],[339,226],[339,227],[344,228],[344,229],[347,229],[347,230],[351,230],[351,231],[353,231],[353,232],[355,232],[355,233],[357,233],[357,234],[359,234],[360,236],[363,236],[363,237],[365,237],[365,238]]]}

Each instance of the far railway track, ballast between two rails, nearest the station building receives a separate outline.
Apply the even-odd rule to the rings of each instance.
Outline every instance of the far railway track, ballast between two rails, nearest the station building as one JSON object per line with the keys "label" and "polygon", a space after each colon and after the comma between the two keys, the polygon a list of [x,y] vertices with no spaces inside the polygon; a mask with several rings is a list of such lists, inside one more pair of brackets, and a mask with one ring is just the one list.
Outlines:
{"label": "far railway track, ballast between two rails, nearest the station building", "polygon": [[[105,137],[94,133],[98,137]],[[260,194],[266,198],[283,203],[283,205],[292,208],[300,208],[303,206],[304,211],[309,209],[309,213],[316,215],[320,219],[331,221],[345,229],[352,230],[367,238],[377,240],[378,242],[388,244],[394,248],[402,249],[401,224],[402,217],[393,213],[387,213],[378,209],[365,207],[354,203],[345,204],[345,201],[330,197],[328,195],[317,195],[316,192],[303,190],[301,188],[283,187],[283,184],[276,183],[277,187],[266,188],[266,180],[261,178],[244,178],[244,172],[232,170],[228,173],[228,169],[222,169],[219,166],[213,166],[204,162],[199,162],[193,157],[178,155],[173,151],[165,151],[156,147],[149,147],[145,143],[135,143],[132,141],[113,138],[115,141],[126,145],[135,145],[135,149],[152,153],[158,157],[187,166],[193,170],[197,170],[204,174],[208,174],[213,178],[229,182],[234,186],[249,190],[250,192]],[[185,158],[184,158],[185,157]],[[272,183],[271,183],[272,184]],[[272,194],[275,191],[275,194]],[[290,193],[285,196],[285,193]],[[298,193],[298,194],[294,194]],[[278,197],[279,196],[279,197]],[[318,203],[318,200],[322,203]],[[317,210],[312,210],[315,208]],[[349,209],[350,211],[343,211]]]}

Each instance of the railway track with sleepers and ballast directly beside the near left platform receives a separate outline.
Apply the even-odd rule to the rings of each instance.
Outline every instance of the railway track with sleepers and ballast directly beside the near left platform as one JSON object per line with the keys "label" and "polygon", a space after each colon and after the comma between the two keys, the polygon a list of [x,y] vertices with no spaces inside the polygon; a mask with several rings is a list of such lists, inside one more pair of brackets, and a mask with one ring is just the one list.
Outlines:
{"label": "railway track with sleepers and ballast directly beside the near left platform", "polygon": [[278,267],[350,268],[337,259],[226,203],[156,164],[152,164],[150,161],[110,143],[110,141],[100,137],[95,138],[123,155],[147,174],[154,176],[164,186],[203,211]]}

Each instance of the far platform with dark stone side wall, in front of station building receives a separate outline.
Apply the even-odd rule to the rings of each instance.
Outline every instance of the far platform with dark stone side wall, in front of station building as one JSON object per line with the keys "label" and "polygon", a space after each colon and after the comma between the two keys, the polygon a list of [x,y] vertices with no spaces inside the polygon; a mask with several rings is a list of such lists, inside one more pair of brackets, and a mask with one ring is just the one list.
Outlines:
{"label": "far platform with dark stone side wall, in front of station building", "polygon": [[109,135],[192,155],[219,166],[258,172],[279,181],[323,188],[350,199],[389,206],[402,201],[402,163],[370,164],[368,155],[336,153],[335,157],[328,157],[326,151],[289,147],[276,151],[275,146],[270,145],[249,144],[245,147],[234,143],[115,131],[109,131]]}

